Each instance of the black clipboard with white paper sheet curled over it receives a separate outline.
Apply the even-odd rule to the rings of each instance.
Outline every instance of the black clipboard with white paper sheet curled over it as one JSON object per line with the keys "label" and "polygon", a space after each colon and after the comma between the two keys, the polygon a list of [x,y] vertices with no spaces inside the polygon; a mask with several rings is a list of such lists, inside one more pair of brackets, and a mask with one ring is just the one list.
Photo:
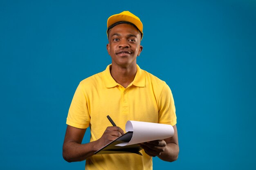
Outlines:
{"label": "black clipboard with white paper sheet curled over it", "polygon": [[126,131],[128,132],[97,150],[94,154],[136,153],[142,155],[139,151],[143,148],[137,144],[162,140],[174,135],[174,129],[171,125],[143,121],[127,121]]}

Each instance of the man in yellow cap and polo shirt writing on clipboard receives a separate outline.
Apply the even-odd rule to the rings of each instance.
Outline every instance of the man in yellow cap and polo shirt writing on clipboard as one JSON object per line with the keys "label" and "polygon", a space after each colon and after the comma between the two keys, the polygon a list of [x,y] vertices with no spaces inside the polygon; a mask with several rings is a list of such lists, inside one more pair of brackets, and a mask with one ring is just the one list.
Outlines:
{"label": "man in yellow cap and polo shirt writing on clipboard", "polygon": [[[108,18],[108,54],[112,64],[106,70],[80,82],[67,116],[63,144],[66,161],[83,161],[88,170],[150,170],[152,157],[175,161],[179,146],[173,96],[168,85],[136,63],[143,47],[143,25],[129,11]],[[157,56],[156,56],[157,57]],[[117,126],[111,126],[110,115]],[[174,136],[139,144],[137,154],[94,155],[94,152],[124,134],[126,121],[171,124]],[[91,139],[81,144],[86,128]]]}

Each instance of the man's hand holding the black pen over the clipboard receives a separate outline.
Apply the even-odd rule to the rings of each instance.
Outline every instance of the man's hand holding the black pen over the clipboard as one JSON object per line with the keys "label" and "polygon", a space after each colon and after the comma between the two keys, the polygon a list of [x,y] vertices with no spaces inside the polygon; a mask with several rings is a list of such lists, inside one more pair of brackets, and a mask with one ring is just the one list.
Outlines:
{"label": "man's hand holding the black pen over the clipboard", "polygon": [[122,130],[118,126],[107,127],[101,138],[97,140],[97,150],[99,150],[103,146],[106,146],[111,141],[114,141],[121,135],[124,135],[124,130]]}

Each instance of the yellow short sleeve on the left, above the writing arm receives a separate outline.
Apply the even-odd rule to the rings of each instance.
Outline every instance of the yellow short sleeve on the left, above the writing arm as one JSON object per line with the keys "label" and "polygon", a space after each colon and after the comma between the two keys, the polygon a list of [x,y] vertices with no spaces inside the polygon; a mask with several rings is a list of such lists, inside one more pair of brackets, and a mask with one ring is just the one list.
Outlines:
{"label": "yellow short sleeve on the left, above the writing arm", "polygon": [[76,88],[70,109],[67,115],[67,125],[75,128],[85,129],[90,125],[90,115],[88,112],[87,98],[81,83]]}

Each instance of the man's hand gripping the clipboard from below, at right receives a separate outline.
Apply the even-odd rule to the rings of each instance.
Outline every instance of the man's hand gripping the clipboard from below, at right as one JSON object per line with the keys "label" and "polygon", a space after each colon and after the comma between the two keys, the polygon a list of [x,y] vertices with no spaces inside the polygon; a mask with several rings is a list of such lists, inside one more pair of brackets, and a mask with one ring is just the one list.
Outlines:
{"label": "man's hand gripping the clipboard from below, at right", "polygon": [[161,153],[164,152],[166,141],[155,140],[144,142],[138,145],[141,146],[141,148],[143,148],[146,154],[148,154],[150,157],[155,157],[161,155]]}

